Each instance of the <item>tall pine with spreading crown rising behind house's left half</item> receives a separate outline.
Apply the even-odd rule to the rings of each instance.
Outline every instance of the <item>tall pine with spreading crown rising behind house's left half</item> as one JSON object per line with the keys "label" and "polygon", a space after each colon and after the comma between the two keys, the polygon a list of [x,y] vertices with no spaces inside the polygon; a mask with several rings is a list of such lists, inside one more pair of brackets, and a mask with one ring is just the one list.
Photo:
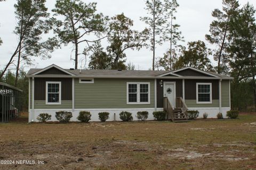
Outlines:
{"label": "tall pine with spreading crown rising behind house's left half", "polygon": [[[74,45],[75,69],[78,67],[78,55],[83,54],[79,53],[79,45],[81,43],[89,45],[105,38],[102,33],[106,30],[108,18],[102,13],[97,13],[96,5],[97,3],[86,4],[81,0],[57,0],[52,10],[55,16],[63,18],[54,19],[56,25],[54,31],[58,34],[61,43]],[[94,36],[95,39],[91,40],[89,36]]]}

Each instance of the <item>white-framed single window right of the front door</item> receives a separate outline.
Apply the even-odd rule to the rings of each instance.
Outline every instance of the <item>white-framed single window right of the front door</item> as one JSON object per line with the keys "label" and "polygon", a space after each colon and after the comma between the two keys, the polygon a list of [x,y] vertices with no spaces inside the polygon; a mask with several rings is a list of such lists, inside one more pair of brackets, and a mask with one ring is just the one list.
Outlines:
{"label": "white-framed single window right of the front door", "polygon": [[196,103],[212,103],[212,83],[196,83]]}

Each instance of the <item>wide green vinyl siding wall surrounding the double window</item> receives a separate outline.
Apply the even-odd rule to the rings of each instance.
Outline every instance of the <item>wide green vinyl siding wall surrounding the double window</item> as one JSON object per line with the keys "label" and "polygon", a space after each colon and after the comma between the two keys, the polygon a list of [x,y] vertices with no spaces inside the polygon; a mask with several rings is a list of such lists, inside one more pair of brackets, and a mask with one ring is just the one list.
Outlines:
{"label": "wide green vinyl siding wall surrounding the double window", "polygon": [[[127,104],[127,82],[149,82],[150,104]],[[154,108],[154,83],[154,79],[94,79],[94,83],[75,79],[75,108]]]}

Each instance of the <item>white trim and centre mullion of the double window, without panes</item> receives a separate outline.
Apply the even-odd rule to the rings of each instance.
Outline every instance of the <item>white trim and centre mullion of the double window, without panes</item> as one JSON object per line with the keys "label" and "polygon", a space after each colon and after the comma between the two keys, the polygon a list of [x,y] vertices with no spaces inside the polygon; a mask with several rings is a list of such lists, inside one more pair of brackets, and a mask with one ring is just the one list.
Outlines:
{"label": "white trim and centre mullion of the double window, without panes", "polygon": [[[129,84],[137,84],[137,102],[129,102]],[[148,102],[140,102],[140,84],[148,84]],[[126,84],[126,104],[127,105],[150,104],[150,83],[149,82],[127,82],[127,84]]]}

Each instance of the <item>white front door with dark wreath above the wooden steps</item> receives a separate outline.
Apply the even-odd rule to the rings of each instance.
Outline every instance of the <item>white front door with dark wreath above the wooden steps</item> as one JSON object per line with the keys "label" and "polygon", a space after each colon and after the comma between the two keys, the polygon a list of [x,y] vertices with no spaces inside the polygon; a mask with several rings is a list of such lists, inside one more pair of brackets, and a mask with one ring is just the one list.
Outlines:
{"label": "white front door with dark wreath above the wooden steps", "polygon": [[164,82],[164,97],[168,97],[173,107],[176,107],[175,98],[175,82]]}

